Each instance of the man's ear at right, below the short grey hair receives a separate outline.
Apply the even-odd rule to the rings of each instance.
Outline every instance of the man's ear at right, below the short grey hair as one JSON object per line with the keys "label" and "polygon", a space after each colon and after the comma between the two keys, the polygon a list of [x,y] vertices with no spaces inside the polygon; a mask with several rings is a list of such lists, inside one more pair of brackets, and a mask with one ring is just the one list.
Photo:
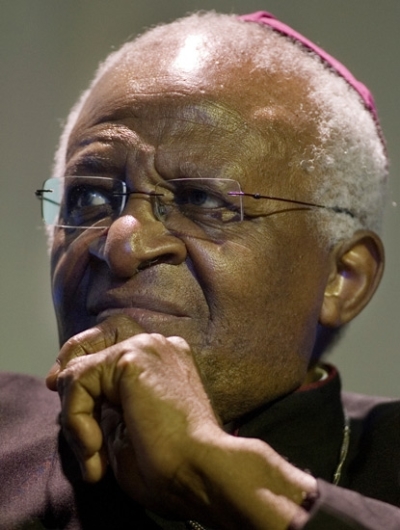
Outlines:
{"label": "man's ear at right, below the short grey hair", "polygon": [[384,259],[381,239],[369,230],[359,230],[333,248],[320,324],[337,328],[360,313],[379,285]]}

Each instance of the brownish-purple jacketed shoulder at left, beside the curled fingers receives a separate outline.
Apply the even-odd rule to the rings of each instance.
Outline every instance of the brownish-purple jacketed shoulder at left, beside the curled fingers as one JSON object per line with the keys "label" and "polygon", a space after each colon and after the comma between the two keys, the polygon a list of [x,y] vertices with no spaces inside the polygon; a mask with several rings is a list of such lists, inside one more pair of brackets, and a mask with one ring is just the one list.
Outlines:
{"label": "brownish-purple jacketed shoulder at left, beside the curled fingers", "polygon": [[0,528],[46,512],[50,479],[61,476],[58,412],[58,395],[44,381],[0,373]]}

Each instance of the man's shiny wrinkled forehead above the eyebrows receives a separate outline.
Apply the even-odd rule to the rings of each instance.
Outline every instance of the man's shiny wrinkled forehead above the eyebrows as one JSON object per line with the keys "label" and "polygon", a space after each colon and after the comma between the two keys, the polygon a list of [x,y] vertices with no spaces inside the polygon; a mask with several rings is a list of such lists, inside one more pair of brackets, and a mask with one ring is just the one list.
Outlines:
{"label": "man's shiny wrinkled forehead above the eyebrows", "polygon": [[251,61],[232,61],[201,35],[158,49],[133,43],[92,89],[68,152],[107,129],[112,141],[152,148],[164,163],[180,154],[188,165],[215,161],[244,173],[244,161],[287,164],[293,149],[313,136],[305,134],[309,125],[300,125],[302,85],[282,83],[279,72],[267,76]]}

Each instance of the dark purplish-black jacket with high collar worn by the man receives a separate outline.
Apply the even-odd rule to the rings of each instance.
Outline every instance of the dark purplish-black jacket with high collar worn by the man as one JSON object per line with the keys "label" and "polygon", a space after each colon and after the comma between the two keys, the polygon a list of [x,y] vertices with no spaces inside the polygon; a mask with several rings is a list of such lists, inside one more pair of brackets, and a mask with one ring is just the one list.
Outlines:
{"label": "dark purplish-black jacket with high collar worn by the man", "polygon": [[[125,496],[111,474],[96,485],[80,480],[59,433],[59,408],[58,396],[39,379],[0,375],[0,530],[164,526]],[[344,410],[350,443],[339,485],[333,486]],[[339,376],[330,369],[327,380],[254,412],[237,432],[265,440],[319,478],[319,498],[305,530],[400,529],[399,401],[341,396]]]}

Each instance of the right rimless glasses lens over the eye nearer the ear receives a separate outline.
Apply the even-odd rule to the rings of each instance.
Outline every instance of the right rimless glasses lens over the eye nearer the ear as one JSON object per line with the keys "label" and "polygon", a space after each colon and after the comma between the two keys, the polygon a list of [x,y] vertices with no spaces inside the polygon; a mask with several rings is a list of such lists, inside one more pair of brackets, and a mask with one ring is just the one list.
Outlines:
{"label": "right rimless glasses lens over the eye nearer the ear", "polygon": [[231,179],[172,179],[156,186],[155,203],[169,229],[193,236],[243,219],[240,185]]}

